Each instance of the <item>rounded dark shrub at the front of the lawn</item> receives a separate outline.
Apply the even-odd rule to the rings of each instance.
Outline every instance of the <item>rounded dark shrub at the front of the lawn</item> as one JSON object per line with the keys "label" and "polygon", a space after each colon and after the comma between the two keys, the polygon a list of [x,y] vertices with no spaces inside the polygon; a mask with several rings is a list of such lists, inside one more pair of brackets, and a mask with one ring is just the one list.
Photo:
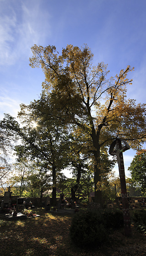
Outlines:
{"label": "rounded dark shrub at the front of the lawn", "polygon": [[80,246],[94,246],[103,244],[108,236],[104,224],[96,213],[84,212],[76,214],[70,227],[72,241]]}

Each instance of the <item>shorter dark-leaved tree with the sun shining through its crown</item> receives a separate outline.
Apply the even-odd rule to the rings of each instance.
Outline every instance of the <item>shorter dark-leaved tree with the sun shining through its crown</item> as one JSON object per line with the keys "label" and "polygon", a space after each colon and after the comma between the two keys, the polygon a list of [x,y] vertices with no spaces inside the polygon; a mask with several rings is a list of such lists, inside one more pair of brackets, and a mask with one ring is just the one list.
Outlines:
{"label": "shorter dark-leaved tree with the sun shining through its crown", "polygon": [[35,159],[38,164],[41,162],[44,168],[52,171],[52,203],[55,205],[57,172],[66,163],[62,120],[59,119],[59,113],[57,118],[50,97],[45,97],[44,94],[40,100],[31,102],[28,106],[22,104],[18,116],[23,127],[10,115],[5,116],[1,126],[14,131],[22,139],[22,144],[15,148],[20,159],[24,156]]}

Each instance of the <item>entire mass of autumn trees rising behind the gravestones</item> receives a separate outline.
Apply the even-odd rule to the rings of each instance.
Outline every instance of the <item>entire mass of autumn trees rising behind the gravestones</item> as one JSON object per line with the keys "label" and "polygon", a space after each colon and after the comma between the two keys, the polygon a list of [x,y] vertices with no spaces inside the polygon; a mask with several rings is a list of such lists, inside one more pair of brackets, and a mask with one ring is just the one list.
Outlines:
{"label": "entire mass of autumn trees rising behind the gravestones", "polygon": [[[53,204],[57,187],[69,188],[73,200],[80,191],[87,196],[94,187],[95,202],[102,205],[112,187],[118,187],[118,178],[110,179],[115,165],[108,155],[111,142],[118,137],[132,149],[141,149],[146,141],[146,104],[126,99],[126,86],[132,84],[127,77],[133,69],[127,66],[108,78],[107,65],[94,66],[87,45],[68,45],[62,55],[50,45],[31,49],[30,65],[42,67],[45,81],[38,100],[21,104],[20,123],[9,114],[0,122],[2,152],[17,141],[17,161],[9,184],[15,188],[18,184],[15,193],[24,195],[27,188],[31,195],[39,190],[41,197],[52,188]],[[71,168],[72,179],[63,176],[65,168]],[[0,170],[5,179],[6,170]],[[131,181],[127,182],[131,187]]]}

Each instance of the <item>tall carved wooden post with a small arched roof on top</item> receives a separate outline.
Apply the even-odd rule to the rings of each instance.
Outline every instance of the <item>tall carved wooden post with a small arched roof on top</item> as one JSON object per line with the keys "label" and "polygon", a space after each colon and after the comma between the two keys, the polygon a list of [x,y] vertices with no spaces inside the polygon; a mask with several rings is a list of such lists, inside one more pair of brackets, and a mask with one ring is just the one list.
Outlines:
{"label": "tall carved wooden post with a small arched roof on top", "polygon": [[[129,212],[129,203],[128,203],[128,194],[126,190],[126,181],[125,181],[125,169],[124,169],[124,160],[123,160],[123,152],[130,149],[130,146],[125,142],[125,146],[122,147],[121,140],[115,139],[115,141],[110,145],[110,155],[116,155],[118,166],[119,166],[119,174],[120,174],[120,186],[121,186],[121,197],[122,197],[122,208],[124,214],[124,227],[125,227],[125,235],[131,235],[131,223],[130,223],[130,212]],[[116,146],[116,150],[114,148]]]}

